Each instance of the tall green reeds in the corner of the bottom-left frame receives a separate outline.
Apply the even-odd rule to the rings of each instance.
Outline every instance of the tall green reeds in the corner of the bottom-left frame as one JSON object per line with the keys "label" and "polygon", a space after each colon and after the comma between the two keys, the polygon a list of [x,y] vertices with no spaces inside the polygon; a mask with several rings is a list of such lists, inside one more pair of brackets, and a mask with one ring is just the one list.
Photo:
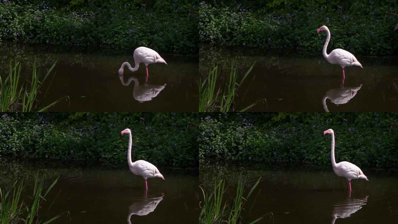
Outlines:
{"label": "tall green reeds in the corner of the bottom-left frame", "polygon": [[[47,191],[45,191],[44,175],[40,178],[39,173],[37,173],[35,184],[33,186],[33,196],[30,196],[30,203],[26,203],[25,200],[20,200],[22,190],[24,188],[23,180],[16,180],[7,193],[4,189],[0,188],[0,222],[2,224],[49,224],[59,217],[69,214],[69,212],[63,212],[52,218],[48,218],[48,214],[45,216],[41,214],[41,216],[39,216],[39,210],[41,208],[40,205],[57,181],[58,178],[55,179],[55,181],[53,181],[53,183],[47,188]],[[51,203],[51,205],[52,204],[53,203]],[[51,205],[48,208],[47,213],[50,210]]]}

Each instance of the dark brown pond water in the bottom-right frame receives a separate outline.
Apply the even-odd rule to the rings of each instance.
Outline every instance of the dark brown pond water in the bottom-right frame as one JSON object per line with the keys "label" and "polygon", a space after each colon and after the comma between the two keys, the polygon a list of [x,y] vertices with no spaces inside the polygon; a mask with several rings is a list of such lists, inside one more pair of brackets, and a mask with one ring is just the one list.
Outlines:
{"label": "dark brown pond water in the bottom-right frame", "polygon": [[[273,223],[278,224],[397,223],[398,171],[361,168],[369,182],[352,180],[351,195],[347,180],[338,177],[332,167],[201,161],[199,178],[205,189],[212,186],[214,178],[225,179],[228,188],[224,198],[228,198],[235,194],[240,172],[247,181],[246,189],[261,177],[242,214],[249,220],[273,212]],[[250,208],[252,212],[248,214]],[[272,220],[265,218],[260,223],[272,223]]]}

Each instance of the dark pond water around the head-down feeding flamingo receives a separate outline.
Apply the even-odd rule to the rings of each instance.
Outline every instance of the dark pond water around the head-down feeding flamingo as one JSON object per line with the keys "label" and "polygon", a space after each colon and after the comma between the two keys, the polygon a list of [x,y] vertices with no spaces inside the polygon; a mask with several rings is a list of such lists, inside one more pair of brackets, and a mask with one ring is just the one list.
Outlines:
{"label": "dark pond water around the head-down feeding flamingo", "polygon": [[[43,105],[64,96],[49,112],[188,112],[197,111],[199,59],[197,55],[159,54],[167,65],[144,64],[138,71],[127,67],[122,76],[118,70],[128,61],[134,67],[134,49],[99,49],[98,47],[25,46],[0,44],[0,73],[8,74],[10,59],[21,61],[21,74],[31,75],[34,57],[46,71],[56,61],[54,79]],[[42,77],[43,78],[43,77]],[[22,82],[21,82],[22,83]],[[50,79],[41,88],[44,97]],[[85,96],[84,98],[79,98]]]}

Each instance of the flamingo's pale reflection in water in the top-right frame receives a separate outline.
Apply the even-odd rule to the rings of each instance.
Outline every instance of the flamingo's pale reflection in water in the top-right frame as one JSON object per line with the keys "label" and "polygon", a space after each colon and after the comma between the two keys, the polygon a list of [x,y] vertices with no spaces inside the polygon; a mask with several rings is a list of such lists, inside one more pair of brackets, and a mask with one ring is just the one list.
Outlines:
{"label": "flamingo's pale reflection in water in the top-right frame", "polygon": [[362,84],[354,87],[344,87],[344,79],[341,79],[340,88],[328,90],[322,98],[322,105],[324,106],[325,112],[329,112],[328,105],[326,105],[327,98],[334,104],[345,104],[357,94],[361,87]]}

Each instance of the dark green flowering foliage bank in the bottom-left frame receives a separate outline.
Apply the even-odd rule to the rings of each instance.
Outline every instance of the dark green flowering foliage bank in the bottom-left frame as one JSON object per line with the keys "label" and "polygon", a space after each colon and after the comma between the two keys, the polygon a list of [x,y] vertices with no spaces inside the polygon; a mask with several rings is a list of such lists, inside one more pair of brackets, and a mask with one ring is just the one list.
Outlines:
{"label": "dark green flowering foliage bank in the bottom-left frame", "polygon": [[[154,164],[198,164],[195,113],[4,114],[0,118],[0,155],[126,162],[120,132],[130,128],[132,159]],[[188,124],[191,123],[189,126]]]}

